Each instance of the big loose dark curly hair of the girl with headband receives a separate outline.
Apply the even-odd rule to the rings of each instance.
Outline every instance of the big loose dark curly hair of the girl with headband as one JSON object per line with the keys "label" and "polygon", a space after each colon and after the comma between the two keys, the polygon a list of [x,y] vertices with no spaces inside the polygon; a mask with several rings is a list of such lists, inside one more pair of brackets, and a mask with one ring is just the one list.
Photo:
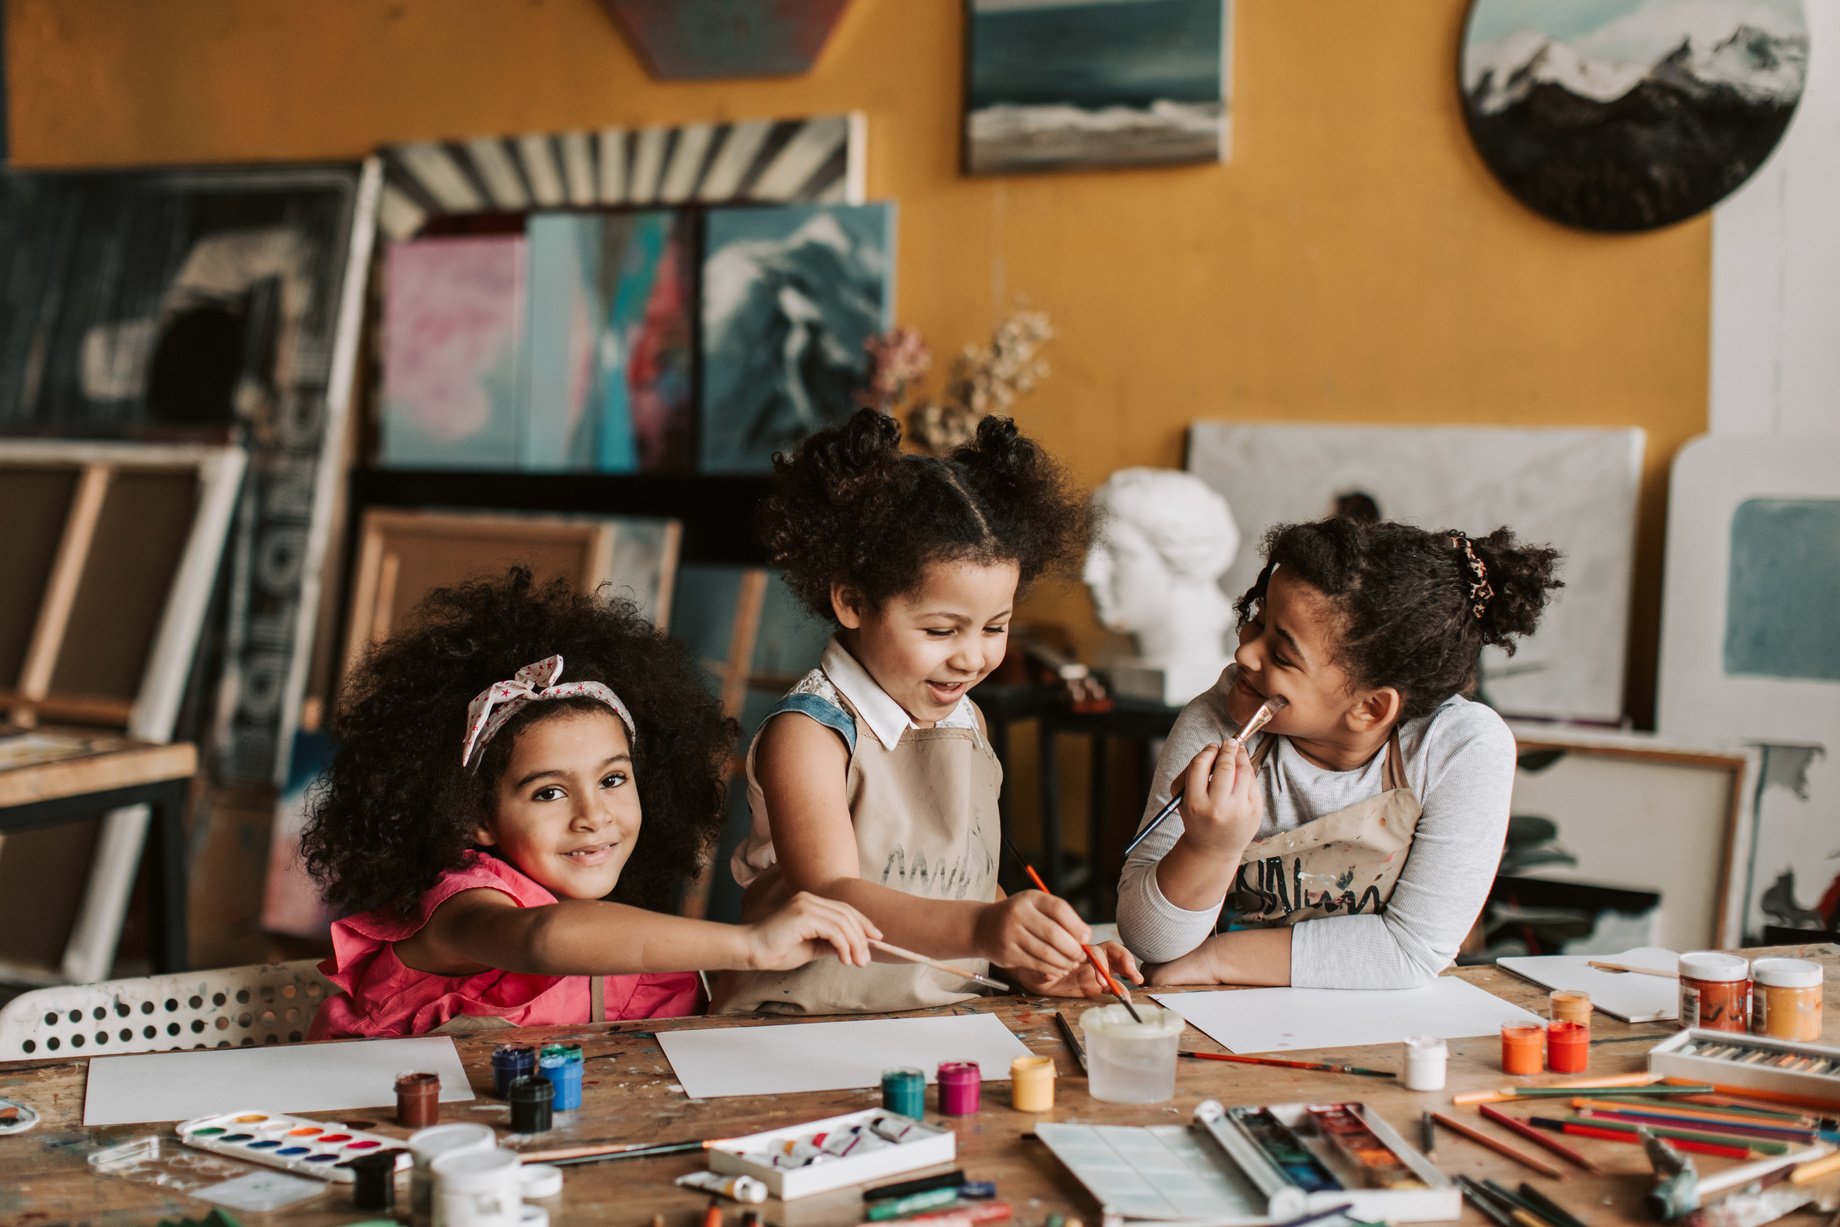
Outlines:
{"label": "big loose dark curly hair of the girl with headband", "polygon": [[563,681],[605,682],[633,714],[633,780],[644,822],[609,896],[662,907],[708,855],[721,822],[734,721],[701,668],[635,605],[537,585],[523,567],[497,579],[438,589],[407,629],[370,649],[346,679],[331,765],[309,791],[300,837],[307,872],[340,914],[412,916],[442,872],[460,868],[524,728],[592,699],[552,699],[517,712],[460,765],[467,705],[497,681],[550,655]]}

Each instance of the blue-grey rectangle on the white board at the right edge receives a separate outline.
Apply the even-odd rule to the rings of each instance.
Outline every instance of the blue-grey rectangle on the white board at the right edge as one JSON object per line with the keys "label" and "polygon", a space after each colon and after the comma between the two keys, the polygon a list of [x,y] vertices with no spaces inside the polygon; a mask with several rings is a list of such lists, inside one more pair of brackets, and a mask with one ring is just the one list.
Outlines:
{"label": "blue-grey rectangle on the white board at the right edge", "polygon": [[1726,673],[1840,681],[1840,502],[1750,499],[1731,515]]}

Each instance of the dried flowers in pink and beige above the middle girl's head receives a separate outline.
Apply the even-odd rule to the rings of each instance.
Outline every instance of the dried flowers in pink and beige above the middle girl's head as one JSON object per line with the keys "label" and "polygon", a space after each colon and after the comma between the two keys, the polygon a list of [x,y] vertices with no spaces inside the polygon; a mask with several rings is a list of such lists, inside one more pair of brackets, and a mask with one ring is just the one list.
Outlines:
{"label": "dried flowers in pink and beige above the middle girl's head", "polygon": [[905,410],[907,438],[944,456],[972,440],[979,418],[1008,412],[1019,394],[1049,373],[1040,350],[1052,337],[1045,313],[1016,307],[997,324],[988,346],[959,351],[937,397],[914,399],[914,384],[933,366],[933,355],[920,333],[896,327],[865,342],[870,379],[859,399],[891,416]]}

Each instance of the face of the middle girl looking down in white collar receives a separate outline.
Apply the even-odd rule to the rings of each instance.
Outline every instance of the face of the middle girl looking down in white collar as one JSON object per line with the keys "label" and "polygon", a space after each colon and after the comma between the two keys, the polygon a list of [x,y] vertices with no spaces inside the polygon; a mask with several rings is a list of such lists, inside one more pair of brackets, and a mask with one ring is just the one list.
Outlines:
{"label": "face of the middle girl looking down in white collar", "polygon": [[850,655],[927,728],[1003,660],[1019,579],[1014,561],[927,563],[918,589],[880,609],[843,587],[832,591],[832,607]]}

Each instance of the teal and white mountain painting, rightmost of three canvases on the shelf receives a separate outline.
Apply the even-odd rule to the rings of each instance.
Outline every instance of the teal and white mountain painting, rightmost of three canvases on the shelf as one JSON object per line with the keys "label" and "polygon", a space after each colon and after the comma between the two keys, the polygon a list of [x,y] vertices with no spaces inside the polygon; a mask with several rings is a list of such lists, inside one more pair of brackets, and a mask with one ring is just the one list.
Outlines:
{"label": "teal and white mountain painting, rightmost of three canvases on the shelf", "polygon": [[863,342],[892,327],[894,206],[710,210],[703,224],[701,469],[767,473],[867,386]]}

